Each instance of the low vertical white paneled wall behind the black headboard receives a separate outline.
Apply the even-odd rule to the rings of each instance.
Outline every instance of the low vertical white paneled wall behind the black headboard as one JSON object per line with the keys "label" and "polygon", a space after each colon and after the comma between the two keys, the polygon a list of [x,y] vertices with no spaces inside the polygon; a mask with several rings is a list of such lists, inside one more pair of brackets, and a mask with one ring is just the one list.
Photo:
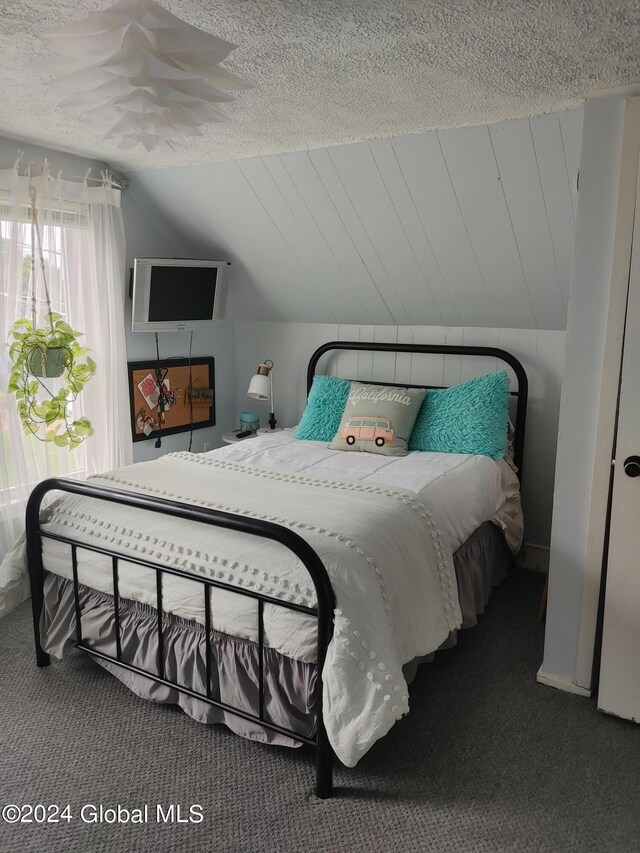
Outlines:
{"label": "low vertical white paneled wall behind the black headboard", "polygon": [[[523,329],[480,329],[443,326],[354,326],[311,323],[238,322],[236,324],[236,419],[243,410],[258,411],[266,426],[268,406],[246,396],[256,367],[265,358],[274,364],[275,414],[280,426],[300,418],[306,400],[306,369],[312,352],[331,340],[475,344],[512,352],[529,377],[529,412],[524,456],[523,503],[528,561],[544,568],[549,545],[555,464],[555,441],[564,358],[564,332]],[[425,360],[428,359],[428,360]],[[331,372],[345,378],[376,378],[413,384],[453,385],[504,367],[491,359],[459,356],[413,357],[345,353]],[[409,378],[410,377],[410,378]],[[228,428],[235,425],[228,424]]]}

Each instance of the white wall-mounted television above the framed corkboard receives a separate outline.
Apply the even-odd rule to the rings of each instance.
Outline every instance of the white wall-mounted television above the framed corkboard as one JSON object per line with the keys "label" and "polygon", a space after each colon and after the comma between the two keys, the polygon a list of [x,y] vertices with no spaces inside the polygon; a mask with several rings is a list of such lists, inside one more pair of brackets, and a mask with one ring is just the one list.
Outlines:
{"label": "white wall-mounted television above the framed corkboard", "polygon": [[136,258],[132,332],[206,329],[224,319],[229,261]]}

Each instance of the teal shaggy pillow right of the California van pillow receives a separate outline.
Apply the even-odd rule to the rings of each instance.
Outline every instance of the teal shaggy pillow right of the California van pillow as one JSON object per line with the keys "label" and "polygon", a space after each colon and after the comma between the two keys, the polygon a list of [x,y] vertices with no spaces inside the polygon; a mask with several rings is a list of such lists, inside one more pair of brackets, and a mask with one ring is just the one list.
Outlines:
{"label": "teal shaggy pillow right of the California van pillow", "polygon": [[507,444],[509,379],[505,370],[427,391],[409,450],[475,453],[501,459]]}

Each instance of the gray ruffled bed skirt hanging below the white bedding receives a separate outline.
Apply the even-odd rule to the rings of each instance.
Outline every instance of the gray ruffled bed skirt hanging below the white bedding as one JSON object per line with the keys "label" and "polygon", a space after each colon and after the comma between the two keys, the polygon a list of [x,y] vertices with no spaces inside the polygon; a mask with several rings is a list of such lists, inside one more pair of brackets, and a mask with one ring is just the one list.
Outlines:
{"label": "gray ruffled bed skirt hanging below the white bedding", "polygon": [[[492,588],[502,580],[512,563],[504,537],[495,525],[479,527],[454,554],[463,628],[477,623],[484,612]],[[61,658],[76,637],[73,583],[58,575],[45,579],[44,607],[40,617],[41,640],[45,651]],[[83,642],[96,651],[116,656],[113,598],[80,586]],[[120,641],[122,659],[150,672],[157,671],[157,612],[146,604],[120,601]],[[206,695],[205,629],[197,622],[165,614],[163,620],[165,678]],[[455,644],[455,632],[443,648]],[[316,668],[265,648],[265,718],[298,734],[314,733],[314,687]],[[416,659],[405,667],[410,683],[418,664],[433,655]],[[296,741],[262,726],[208,705],[172,687],[97,659],[138,696],[153,702],[179,705],[201,723],[225,723],[232,731],[250,740],[299,746]],[[251,714],[258,714],[257,644],[218,631],[211,632],[211,695]]]}

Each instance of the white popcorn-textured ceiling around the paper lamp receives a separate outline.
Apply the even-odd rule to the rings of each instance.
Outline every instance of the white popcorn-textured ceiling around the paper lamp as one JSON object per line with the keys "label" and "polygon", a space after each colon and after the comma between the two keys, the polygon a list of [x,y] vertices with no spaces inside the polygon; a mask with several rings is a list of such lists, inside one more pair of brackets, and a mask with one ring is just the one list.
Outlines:
{"label": "white popcorn-textured ceiling around the paper lamp", "polygon": [[111,0],[0,0],[0,135],[135,169],[528,117],[640,83],[638,0],[162,0],[252,82],[173,153],[121,152],[30,69],[38,34]]}

